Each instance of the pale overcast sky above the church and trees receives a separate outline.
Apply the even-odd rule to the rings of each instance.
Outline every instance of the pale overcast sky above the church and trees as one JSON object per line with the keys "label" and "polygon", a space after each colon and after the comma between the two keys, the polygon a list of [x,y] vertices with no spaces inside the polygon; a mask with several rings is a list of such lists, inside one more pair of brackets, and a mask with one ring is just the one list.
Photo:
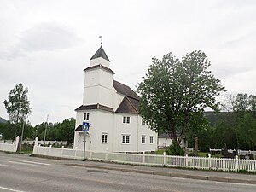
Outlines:
{"label": "pale overcast sky above the church and trees", "polygon": [[256,95],[256,1],[0,0],[0,116],[22,83],[32,125],[75,117],[100,35],[114,79],[132,89],[152,57],[201,50],[229,94]]}

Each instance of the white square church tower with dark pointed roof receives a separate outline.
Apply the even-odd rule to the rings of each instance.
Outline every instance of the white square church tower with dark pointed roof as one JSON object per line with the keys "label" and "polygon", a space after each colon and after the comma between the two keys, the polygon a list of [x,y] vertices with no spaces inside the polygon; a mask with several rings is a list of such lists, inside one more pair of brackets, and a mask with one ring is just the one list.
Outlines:
{"label": "white square church tower with dark pointed roof", "polygon": [[90,58],[90,67],[84,69],[83,106],[101,105],[113,108],[113,71],[102,46]]}

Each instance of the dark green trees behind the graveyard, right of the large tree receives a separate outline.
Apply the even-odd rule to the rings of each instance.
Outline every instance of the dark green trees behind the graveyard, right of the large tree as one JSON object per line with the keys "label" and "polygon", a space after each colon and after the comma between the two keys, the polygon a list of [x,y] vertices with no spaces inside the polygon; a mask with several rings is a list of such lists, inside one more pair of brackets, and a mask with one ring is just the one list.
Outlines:
{"label": "dark green trees behind the graveyard, right of the large tree", "polygon": [[[255,149],[255,96],[240,93],[230,96],[230,98],[233,111],[205,113],[208,127],[196,131],[200,151],[208,151],[209,148],[223,148],[223,143],[226,143],[230,149]],[[188,131],[186,138],[189,141],[189,146],[194,144],[192,136],[193,134]]]}

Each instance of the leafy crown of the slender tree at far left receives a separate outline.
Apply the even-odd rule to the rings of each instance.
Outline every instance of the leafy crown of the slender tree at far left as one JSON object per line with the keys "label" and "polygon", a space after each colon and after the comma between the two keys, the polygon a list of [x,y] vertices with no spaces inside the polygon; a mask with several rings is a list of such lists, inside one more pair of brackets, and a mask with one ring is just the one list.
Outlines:
{"label": "leafy crown of the slender tree at far left", "polygon": [[15,88],[10,90],[8,100],[3,102],[7,113],[9,113],[9,119],[14,123],[21,122],[26,118],[26,115],[31,113],[27,92],[28,89],[24,89],[23,84],[16,84]]}

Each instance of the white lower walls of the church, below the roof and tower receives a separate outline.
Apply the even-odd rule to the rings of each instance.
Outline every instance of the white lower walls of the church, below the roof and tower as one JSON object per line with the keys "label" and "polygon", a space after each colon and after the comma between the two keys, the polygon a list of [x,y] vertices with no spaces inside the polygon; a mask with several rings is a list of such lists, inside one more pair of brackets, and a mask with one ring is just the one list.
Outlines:
{"label": "white lower walls of the church, below the roof and tower", "polygon": [[[143,152],[157,149],[157,135],[148,129],[148,125],[141,125],[142,118],[135,114],[110,113],[102,110],[86,110],[77,113],[76,127],[82,125],[84,113],[90,113],[90,136],[86,137],[86,150],[108,152]],[[130,124],[123,123],[123,117],[130,117]],[[108,143],[102,143],[102,134],[108,134]],[[122,143],[122,136],[130,135],[130,143]],[[142,143],[145,136],[146,143]],[[149,143],[150,136],[154,143]],[[90,137],[90,138],[89,138]],[[90,143],[89,143],[90,140]],[[84,133],[76,131],[74,148],[84,148]]]}

